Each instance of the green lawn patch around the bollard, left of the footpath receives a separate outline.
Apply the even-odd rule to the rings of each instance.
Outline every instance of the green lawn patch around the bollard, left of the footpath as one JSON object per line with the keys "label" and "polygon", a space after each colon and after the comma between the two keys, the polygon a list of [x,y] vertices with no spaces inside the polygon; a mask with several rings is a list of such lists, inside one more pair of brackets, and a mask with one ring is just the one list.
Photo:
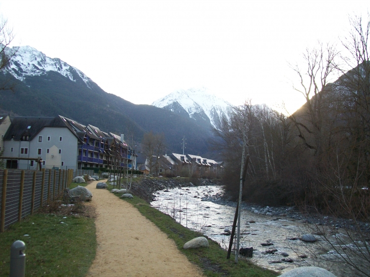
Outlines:
{"label": "green lawn patch around the bollard, left of the footpath", "polygon": [[26,244],[26,276],[86,276],[96,253],[94,219],[63,217],[34,214],[0,233],[0,276],[9,276],[10,247],[17,240]]}

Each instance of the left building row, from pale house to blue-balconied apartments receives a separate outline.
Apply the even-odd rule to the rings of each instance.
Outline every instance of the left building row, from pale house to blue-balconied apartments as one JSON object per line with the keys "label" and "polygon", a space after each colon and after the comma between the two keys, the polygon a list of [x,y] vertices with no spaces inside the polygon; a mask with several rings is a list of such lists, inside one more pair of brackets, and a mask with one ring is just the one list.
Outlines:
{"label": "left building row, from pale house to blue-balconied apartments", "polygon": [[127,145],[124,134],[103,132],[61,115],[11,120],[0,114],[0,135],[7,168],[137,169],[135,150]]}

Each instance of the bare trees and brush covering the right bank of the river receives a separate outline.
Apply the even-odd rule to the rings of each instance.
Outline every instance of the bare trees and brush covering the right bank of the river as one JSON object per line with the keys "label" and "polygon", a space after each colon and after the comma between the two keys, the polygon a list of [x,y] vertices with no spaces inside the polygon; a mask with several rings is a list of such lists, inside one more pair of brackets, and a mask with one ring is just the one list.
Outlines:
{"label": "bare trees and brush covering the right bank of the river", "polygon": [[[305,99],[299,110],[285,115],[247,101],[214,130],[223,142],[214,145],[224,150],[223,181],[235,199],[245,146],[245,201],[297,205],[304,212],[348,219],[355,260],[370,265],[370,228],[358,224],[370,221],[370,15],[350,18],[350,25],[338,47],[343,51],[318,43],[304,53],[303,68],[291,66],[298,76],[294,89]],[[359,275],[369,276],[348,258],[349,249],[334,251]]]}

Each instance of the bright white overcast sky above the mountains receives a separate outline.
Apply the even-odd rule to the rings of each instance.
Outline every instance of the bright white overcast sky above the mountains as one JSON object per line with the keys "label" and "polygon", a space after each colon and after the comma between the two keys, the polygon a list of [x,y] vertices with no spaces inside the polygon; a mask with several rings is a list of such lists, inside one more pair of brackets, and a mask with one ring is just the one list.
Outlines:
{"label": "bright white overcast sky above the mountains", "polygon": [[[338,43],[349,16],[370,2],[351,1],[18,1],[0,0],[12,46],[31,46],[80,69],[104,91],[151,104],[176,90],[207,88],[241,105],[290,112],[306,48]],[[334,80],[333,80],[334,81]]]}

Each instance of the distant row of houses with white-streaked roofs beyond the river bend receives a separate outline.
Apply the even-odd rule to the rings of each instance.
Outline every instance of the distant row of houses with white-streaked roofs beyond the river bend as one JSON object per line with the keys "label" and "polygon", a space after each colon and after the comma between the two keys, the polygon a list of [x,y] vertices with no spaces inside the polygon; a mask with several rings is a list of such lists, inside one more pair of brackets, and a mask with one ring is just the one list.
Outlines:
{"label": "distant row of houses with white-streaked roofs beyond the river bend", "polygon": [[[145,174],[218,178],[223,174],[224,163],[191,154],[165,154],[154,156],[152,165],[147,157],[138,160],[139,170]],[[145,161],[145,162],[144,162]],[[139,163],[141,162],[141,163]]]}

